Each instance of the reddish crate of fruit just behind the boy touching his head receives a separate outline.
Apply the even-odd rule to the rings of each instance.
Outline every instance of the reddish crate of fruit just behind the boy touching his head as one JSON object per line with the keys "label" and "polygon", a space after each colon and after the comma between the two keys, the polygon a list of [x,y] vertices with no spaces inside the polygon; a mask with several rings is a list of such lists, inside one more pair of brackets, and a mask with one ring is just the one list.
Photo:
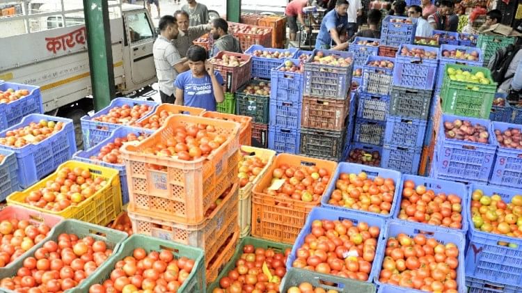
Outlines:
{"label": "reddish crate of fruit just behind the boy touching his head", "polygon": [[[245,49],[243,50],[245,51]],[[236,56],[241,61],[246,61],[243,65],[239,65],[236,67],[226,66],[221,64],[214,63],[214,70],[219,71],[225,84],[223,85],[223,90],[227,93],[235,93],[235,91],[246,84],[250,80],[251,72],[252,72],[252,56],[246,54],[239,54],[234,52],[219,52],[213,58],[210,58],[210,62],[213,59],[221,59],[223,55],[228,56]]]}

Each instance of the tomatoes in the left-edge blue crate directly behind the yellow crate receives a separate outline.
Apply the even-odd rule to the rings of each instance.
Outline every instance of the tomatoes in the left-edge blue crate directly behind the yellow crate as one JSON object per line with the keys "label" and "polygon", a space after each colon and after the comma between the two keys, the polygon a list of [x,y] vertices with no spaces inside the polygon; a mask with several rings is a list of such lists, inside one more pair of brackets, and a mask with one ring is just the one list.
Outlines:
{"label": "tomatoes in the left-edge blue crate directly behind the yellow crate", "polygon": [[40,143],[40,141],[53,136],[56,132],[60,132],[61,129],[63,129],[63,126],[63,122],[47,121],[43,119],[38,123],[31,122],[29,125],[6,132],[6,137],[0,138],[0,145],[22,148],[31,143]]}

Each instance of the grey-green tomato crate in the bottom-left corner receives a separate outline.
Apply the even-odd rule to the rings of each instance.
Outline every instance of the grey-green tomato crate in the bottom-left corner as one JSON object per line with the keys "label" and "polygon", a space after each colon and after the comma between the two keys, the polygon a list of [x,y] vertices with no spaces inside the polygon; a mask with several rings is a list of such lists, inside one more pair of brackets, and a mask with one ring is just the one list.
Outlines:
{"label": "grey-green tomato crate in the bottom-left corner", "polygon": [[[111,228],[102,227],[100,225],[95,225],[91,223],[86,223],[83,221],[78,221],[75,219],[64,219],[61,223],[58,223],[58,225],[54,226],[54,229],[52,230],[52,235],[46,239],[48,240],[54,240],[58,242],[58,236],[62,233],[68,233],[68,234],[74,234],[77,235],[80,239],[86,236],[91,236],[95,240],[102,240],[105,242],[106,246],[108,248],[111,248],[113,250],[113,254],[105,260],[104,264],[102,264],[101,267],[98,267],[94,274],[86,278],[82,283],[81,286],[83,286],[85,283],[88,283],[90,280],[93,279],[93,277],[102,269],[102,267],[105,267],[106,264],[109,262],[116,263],[115,257],[116,254],[122,249],[122,243],[127,238],[127,233],[121,232],[118,230],[113,230]],[[34,255],[35,251],[42,247],[45,241],[41,241],[40,243],[33,246],[31,249],[29,249],[27,255]],[[13,262],[13,267],[10,270],[1,271],[0,272],[0,279],[1,278],[8,278],[12,276],[16,276],[17,271],[20,267],[24,265],[24,259],[18,258]],[[88,292],[88,290],[82,290],[81,286],[74,287],[70,290],[67,290],[65,292],[67,293],[82,293],[82,292]],[[15,293],[11,290],[6,290],[1,288],[1,292],[6,293]]]}

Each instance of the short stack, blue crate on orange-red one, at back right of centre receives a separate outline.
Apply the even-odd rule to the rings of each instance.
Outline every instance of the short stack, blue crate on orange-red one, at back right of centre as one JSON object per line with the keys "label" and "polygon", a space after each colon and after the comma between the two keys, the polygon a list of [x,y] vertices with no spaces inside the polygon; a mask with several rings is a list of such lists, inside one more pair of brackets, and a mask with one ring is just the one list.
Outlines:
{"label": "short stack, blue crate on orange-red one, at back right of centre", "polygon": [[417,29],[416,19],[388,15],[384,17],[381,26],[381,45],[379,56],[395,57],[395,52],[402,44],[413,44],[415,31]]}

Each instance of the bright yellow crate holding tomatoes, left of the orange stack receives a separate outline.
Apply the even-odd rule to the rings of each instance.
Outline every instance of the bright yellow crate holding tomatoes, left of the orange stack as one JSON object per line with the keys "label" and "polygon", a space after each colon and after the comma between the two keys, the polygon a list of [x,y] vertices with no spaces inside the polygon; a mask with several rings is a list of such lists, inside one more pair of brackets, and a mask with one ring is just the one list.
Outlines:
{"label": "bright yellow crate holding tomatoes, left of the orange stack", "polygon": [[[79,203],[79,205],[70,206],[63,209],[61,212],[53,212],[48,209],[42,209],[25,203],[25,198],[29,196],[31,191],[37,191],[45,187],[47,180],[54,180],[61,168],[76,168],[81,167],[88,169],[93,176],[103,177],[107,180],[107,184],[102,189],[96,191],[93,196]],[[64,219],[77,219],[80,221],[93,223],[97,225],[105,226],[109,224],[122,210],[121,203],[121,187],[120,187],[120,175],[118,170],[97,166],[93,164],[83,163],[81,161],[66,161],[65,163],[58,166],[58,169],[51,175],[35,183],[24,191],[17,191],[11,193],[7,198],[8,205],[19,205],[28,209],[35,209],[39,212],[54,214],[55,216],[61,216]]]}

